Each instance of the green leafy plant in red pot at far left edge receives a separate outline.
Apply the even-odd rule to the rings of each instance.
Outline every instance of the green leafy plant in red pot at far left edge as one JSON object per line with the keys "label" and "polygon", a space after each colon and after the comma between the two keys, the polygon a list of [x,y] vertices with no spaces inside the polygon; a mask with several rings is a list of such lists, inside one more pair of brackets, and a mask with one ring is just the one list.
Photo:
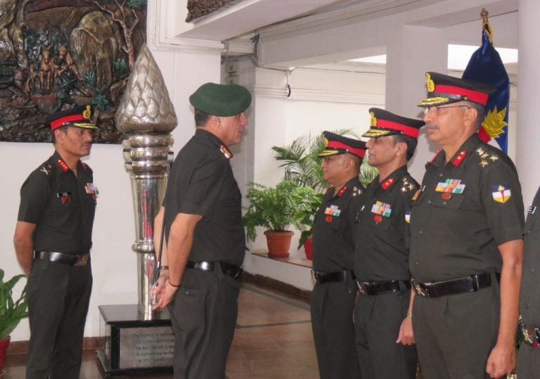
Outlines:
{"label": "green leafy plant in red pot at far left edge", "polygon": [[13,300],[13,287],[24,277],[15,275],[4,282],[4,270],[0,269],[0,340],[8,338],[18,323],[28,317],[26,288],[18,300]]}

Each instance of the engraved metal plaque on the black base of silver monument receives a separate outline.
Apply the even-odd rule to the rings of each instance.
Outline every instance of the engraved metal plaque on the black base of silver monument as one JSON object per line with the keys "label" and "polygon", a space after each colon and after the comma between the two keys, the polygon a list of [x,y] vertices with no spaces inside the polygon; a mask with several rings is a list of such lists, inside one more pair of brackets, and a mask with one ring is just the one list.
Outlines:
{"label": "engraved metal plaque on the black base of silver monument", "polygon": [[172,366],[173,352],[170,326],[120,330],[120,368]]}

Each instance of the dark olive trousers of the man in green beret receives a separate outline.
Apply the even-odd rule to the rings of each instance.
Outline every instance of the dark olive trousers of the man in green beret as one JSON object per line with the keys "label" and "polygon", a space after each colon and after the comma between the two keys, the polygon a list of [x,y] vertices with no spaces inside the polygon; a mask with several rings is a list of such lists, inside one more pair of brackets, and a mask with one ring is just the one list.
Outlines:
{"label": "dark olive trousers of the man in green beret", "polygon": [[225,378],[238,316],[238,282],[221,273],[186,269],[169,304],[174,379]]}

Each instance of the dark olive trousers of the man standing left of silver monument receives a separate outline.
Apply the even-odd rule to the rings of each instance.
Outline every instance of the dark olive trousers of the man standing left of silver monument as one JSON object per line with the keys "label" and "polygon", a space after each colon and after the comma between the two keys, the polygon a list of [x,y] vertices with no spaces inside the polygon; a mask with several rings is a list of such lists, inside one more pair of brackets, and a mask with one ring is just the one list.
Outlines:
{"label": "dark olive trousers of the man standing left of silver monument", "polygon": [[27,282],[27,379],[79,378],[91,290],[90,262],[77,267],[34,259]]}

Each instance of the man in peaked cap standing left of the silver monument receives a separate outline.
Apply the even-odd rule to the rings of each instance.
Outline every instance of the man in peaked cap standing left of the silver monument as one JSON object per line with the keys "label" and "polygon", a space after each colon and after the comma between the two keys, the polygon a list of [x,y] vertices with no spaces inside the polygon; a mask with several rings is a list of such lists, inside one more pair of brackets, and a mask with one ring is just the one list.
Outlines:
{"label": "man in peaked cap standing left of the silver monument", "polygon": [[55,153],[20,189],[15,251],[28,275],[27,378],[79,378],[92,288],[89,252],[98,189],[89,155],[92,107],[51,116]]}

